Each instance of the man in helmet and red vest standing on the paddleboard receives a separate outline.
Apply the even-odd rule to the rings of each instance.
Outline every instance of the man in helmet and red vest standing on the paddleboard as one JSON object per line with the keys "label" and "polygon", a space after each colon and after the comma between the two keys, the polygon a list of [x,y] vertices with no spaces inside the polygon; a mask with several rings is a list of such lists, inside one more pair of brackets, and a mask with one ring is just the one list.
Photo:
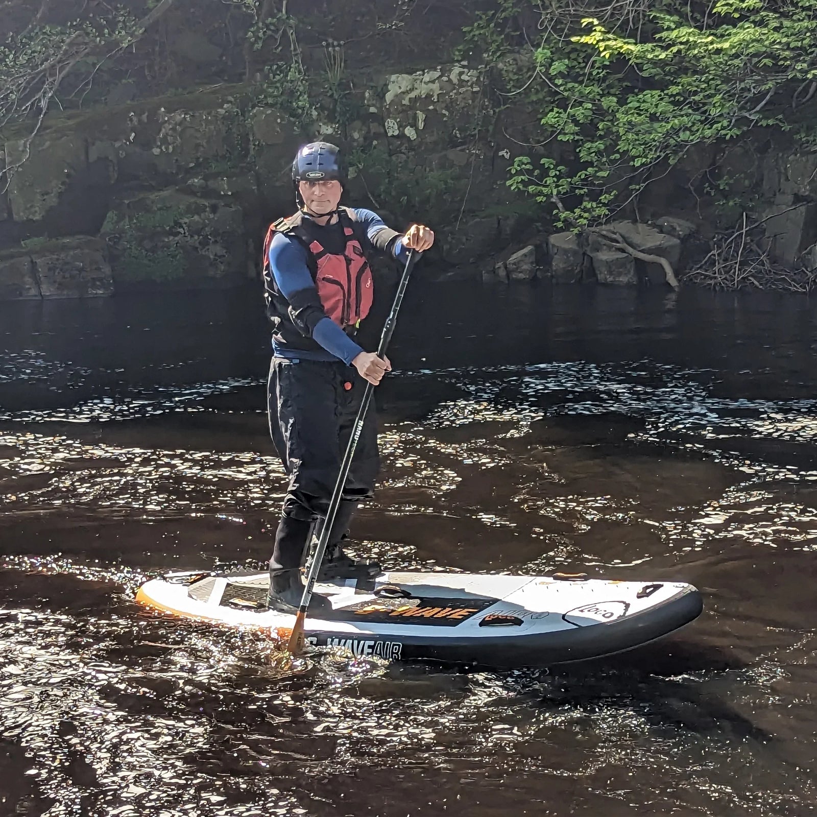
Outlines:
{"label": "man in helmet and red vest standing on the paddleboard", "polygon": [[[275,326],[267,389],[270,435],[289,476],[283,514],[270,559],[270,607],[294,613],[304,583],[301,560],[315,523],[323,524],[340,462],[363,396],[391,370],[355,342],[372,306],[373,250],[397,261],[434,243],[427,227],[390,230],[370,210],[339,207],[346,174],[340,150],[313,142],[292,163],[296,215],[270,226],[264,243],[267,314]],[[319,578],[377,575],[380,565],[358,563],[341,541],[359,502],[372,498],[379,468],[377,418],[368,409],[337,511]],[[310,612],[329,609],[312,596]]]}

